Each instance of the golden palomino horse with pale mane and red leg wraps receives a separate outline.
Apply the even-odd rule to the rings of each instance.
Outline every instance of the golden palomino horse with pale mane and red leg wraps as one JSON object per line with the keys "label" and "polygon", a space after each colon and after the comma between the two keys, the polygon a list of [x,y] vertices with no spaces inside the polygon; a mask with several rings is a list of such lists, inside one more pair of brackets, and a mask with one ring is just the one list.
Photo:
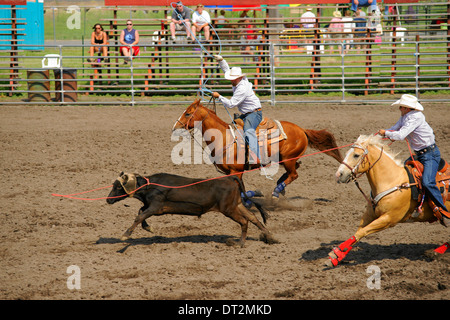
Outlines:
{"label": "golden palomino horse with pale mane and red leg wraps", "polygon": [[[338,183],[355,181],[366,173],[373,199],[367,200],[366,211],[362,216],[355,235],[341,243],[329,253],[328,264],[336,266],[363,237],[395,226],[399,222],[433,222],[436,217],[427,202],[422,211],[415,212],[418,201],[411,196],[408,173],[403,164],[395,159],[381,136],[360,136],[347,152],[344,161],[336,172]],[[448,177],[447,177],[448,178]],[[450,178],[448,178],[450,179]],[[446,206],[450,205],[447,200]],[[443,253],[448,243],[441,246]]]}

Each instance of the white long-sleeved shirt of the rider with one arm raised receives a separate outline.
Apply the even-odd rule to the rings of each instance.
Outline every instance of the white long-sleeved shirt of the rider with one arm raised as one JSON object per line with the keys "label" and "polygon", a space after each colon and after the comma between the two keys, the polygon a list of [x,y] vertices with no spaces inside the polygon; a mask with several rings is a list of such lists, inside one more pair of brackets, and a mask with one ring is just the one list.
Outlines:
{"label": "white long-sleeved shirt of the rider with one arm raised", "polygon": [[[230,70],[225,60],[219,61],[219,66],[224,73]],[[261,102],[253,91],[253,84],[248,81],[247,77],[243,77],[237,86],[233,86],[231,99],[219,96],[219,101],[227,108],[237,107],[242,113],[253,112],[261,108]]]}

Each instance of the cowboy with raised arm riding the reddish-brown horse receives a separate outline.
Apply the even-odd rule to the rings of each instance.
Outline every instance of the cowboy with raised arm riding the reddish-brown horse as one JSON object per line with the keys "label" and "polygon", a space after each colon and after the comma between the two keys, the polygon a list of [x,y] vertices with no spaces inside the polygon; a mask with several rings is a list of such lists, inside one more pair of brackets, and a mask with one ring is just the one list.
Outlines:
{"label": "cowboy with raised arm riding the reddish-brown horse", "polygon": [[225,107],[237,107],[242,113],[240,118],[244,121],[244,137],[249,149],[257,158],[254,159],[249,156],[249,163],[258,163],[260,156],[256,128],[262,120],[261,101],[259,101],[259,98],[253,91],[253,84],[248,81],[240,67],[233,67],[230,69],[226,60],[220,55],[215,55],[214,58],[219,62],[220,68],[225,73],[225,79],[231,81],[231,84],[233,85],[233,96],[231,99],[227,99],[218,92],[213,92],[212,96],[219,99]]}

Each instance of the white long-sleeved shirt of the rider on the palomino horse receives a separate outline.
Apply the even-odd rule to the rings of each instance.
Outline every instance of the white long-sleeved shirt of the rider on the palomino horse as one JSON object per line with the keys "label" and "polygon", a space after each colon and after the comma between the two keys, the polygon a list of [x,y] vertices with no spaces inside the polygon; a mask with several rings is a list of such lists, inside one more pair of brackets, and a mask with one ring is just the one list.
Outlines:
{"label": "white long-sleeved shirt of the rider on the palomino horse", "polygon": [[435,143],[433,129],[420,111],[410,111],[401,116],[396,124],[386,130],[385,135],[392,140],[408,139],[415,151]]}

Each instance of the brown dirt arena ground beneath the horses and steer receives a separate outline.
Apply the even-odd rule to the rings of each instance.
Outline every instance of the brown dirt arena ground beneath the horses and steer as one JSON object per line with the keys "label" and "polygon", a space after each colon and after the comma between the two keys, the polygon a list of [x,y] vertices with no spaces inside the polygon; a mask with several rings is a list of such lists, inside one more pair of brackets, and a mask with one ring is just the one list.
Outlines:
{"label": "brown dirt arena ground beneath the horses and steer", "polygon": [[[338,163],[322,154],[303,158],[299,179],[277,207],[269,206],[267,227],[280,241],[274,245],[259,241],[251,225],[244,248],[227,246],[240,228],[215,212],[200,219],[153,217],[154,234],[138,227],[123,242],[141,206],[137,200],[108,205],[52,196],[111,185],[120,171],[220,175],[207,164],[172,163],[178,142],[171,141],[171,129],[183,110],[0,106],[0,299],[449,299],[450,253],[424,255],[449,240],[449,229],[438,223],[405,223],[370,235],[345,263],[324,267],[331,248],[356,231],[365,200],[354,184],[335,183]],[[265,106],[264,113],[307,129],[326,128],[340,146],[400,115],[388,104]],[[227,119],[222,108],[219,115]],[[425,115],[450,159],[448,105],[425,104]],[[407,157],[405,142],[392,148]],[[247,189],[261,189],[270,199],[275,181],[257,172],[244,180]],[[369,191],[367,179],[360,181]],[[67,285],[73,265],[80,289]],[[372,268],[381,272],[379,289],[367,285]]]}

